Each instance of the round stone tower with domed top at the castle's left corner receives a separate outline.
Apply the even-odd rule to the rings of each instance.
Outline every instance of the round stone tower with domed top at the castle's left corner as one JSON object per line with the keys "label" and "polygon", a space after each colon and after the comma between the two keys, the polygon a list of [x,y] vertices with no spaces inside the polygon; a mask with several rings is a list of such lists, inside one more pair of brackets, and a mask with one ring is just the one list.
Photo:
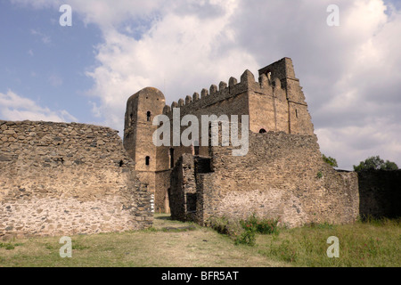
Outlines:
{"label": "round stone tower with domed top at the castle's left corner", "polygon": [[135,172],[141,182],[148,184],[148,191],[155,191],[157,168],[156,146],[152,135],[157,126],[153,118],[163,112],[164,95],[156,88],[147,87],[129,97],[125,115],[124,147],[135,160]]}

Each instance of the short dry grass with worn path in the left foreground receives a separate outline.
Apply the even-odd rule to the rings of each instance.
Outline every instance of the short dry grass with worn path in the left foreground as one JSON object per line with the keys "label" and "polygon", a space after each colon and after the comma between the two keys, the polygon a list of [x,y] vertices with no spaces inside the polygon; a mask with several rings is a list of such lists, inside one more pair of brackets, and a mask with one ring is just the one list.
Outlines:
{"label": "short dry grass with worn path in the left foreground", "polygon": [[[191,226],[191,228],[179,229]],[[170,228],[166,230],[166,228]],[[171,230],[176,228],[176,230]],[[12,240],[0,248],[0,266],[133,266],[239,267],[283,266],[258,254],[257,248],[235,246],[209,228],[171,221],[157,215],[152,229],[140,232],[72,236],[72,257],[61,258],[60,237]]]}

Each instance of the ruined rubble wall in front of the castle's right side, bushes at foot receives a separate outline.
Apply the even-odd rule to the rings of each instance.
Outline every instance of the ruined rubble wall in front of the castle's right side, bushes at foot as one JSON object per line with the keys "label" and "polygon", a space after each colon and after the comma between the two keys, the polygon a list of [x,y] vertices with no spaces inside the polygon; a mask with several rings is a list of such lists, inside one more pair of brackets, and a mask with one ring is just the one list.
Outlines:
{"label": "ruined rubble wall in front of the castle's right side, bushes at foot", "polygon": [[315,135],[250,132],[244,157],[212,147],[212,172],[195,173],[197,222],[252,214],[279,217],[289,226],[353,222],[359,214],[356,173],[324,163],[316,141]]}

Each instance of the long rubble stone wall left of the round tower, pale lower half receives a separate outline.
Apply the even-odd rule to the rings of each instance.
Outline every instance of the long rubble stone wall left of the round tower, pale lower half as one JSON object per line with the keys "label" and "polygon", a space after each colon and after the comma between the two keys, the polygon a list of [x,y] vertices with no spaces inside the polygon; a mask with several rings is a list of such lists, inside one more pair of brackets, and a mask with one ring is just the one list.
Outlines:
{"label": "long rubble stone wall left of the round tower, pale lower half", "polygon": [[0,121],[0,236],[150,226],[150,195],[108,127]]}

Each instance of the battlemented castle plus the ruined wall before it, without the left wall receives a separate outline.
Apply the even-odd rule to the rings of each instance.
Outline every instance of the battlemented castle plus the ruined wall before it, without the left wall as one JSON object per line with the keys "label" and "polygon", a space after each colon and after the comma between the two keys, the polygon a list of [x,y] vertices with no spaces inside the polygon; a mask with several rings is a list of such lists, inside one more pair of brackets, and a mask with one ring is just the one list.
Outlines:
{"label": "battlemented castle plus the ruined wall before it, without the left wall", "polygon": [[[151,158],[145,179],[154,190],[156,209],[200,224],[210,216],[244,218],[253,213],[280,217],[290,226],[349,223],[358,216],[357,175],[337,172],[323,162],[290,58],[259,69],[258,81],[245,70],[240,80],[230,77],[228,84],[221,81],[171,106],[163,102],[164,95],[151,87],[131,96],[124,135],[124,145],[132,158],[134,154],[142,161]],[[136,122],[144,120],[145,114],[151,114],[147,118],[148,133],[136,131],[133,140],[134,130],[143,128]],[[242,116],[249,116],[249,152],[234,157],[233,146],[202,145],[201,131],[200,141],[193,141],[192,146],[170,141],[156,147],[151,135],[157,126],[150,121],[161,114],[170,122],[171,140],[174,120],[185,115],[200,122],[202,116],[238,116],[240,126]],[[187,126],[179,127],[182,134]],[[138,145],[146,142],[151,144],[146,153],[138,151]]]}

